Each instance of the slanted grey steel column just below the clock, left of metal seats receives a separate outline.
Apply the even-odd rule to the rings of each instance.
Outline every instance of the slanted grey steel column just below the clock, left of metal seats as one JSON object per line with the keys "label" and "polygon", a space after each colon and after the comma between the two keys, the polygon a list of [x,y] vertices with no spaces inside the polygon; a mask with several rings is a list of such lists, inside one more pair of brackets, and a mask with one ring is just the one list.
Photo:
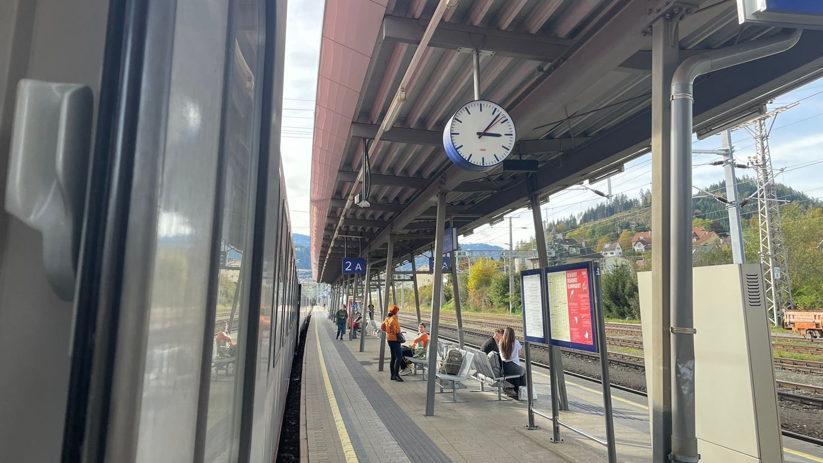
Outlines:
{"label": "slanted grey steel column just below the clock, left of metal seats", "polygon": [[[446,192],[437,194],[437,225],[435,226],[435,279],[431,283],[431,327],[429,334],[429,377],[425,384],[425,416],[435,415],[435,380],[437,379],[437,331],[440,325],[440,300],[437,295],[443,288],[443,235],[446,226]],[[391,243],[391,241],[389,241]],[[391,245],[389,250],[391,250]]]}

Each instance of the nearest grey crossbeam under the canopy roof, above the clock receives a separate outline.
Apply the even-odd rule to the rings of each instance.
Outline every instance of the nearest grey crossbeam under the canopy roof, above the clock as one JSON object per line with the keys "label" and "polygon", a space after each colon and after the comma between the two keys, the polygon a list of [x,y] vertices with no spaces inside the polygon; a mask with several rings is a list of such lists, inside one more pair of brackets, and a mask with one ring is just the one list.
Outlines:
{"label": "nearest grey crossbeam under the canopy roof, above the clock", "polygon": [[[425,24],[414,18],[385,16],[381,37],[383,40],[417,44],[424,31]],[[441,49],[484,49],[509,58],[551,63],[565,54],[573,43],[571,40],[444,22],[435,30],[429,46]]]}

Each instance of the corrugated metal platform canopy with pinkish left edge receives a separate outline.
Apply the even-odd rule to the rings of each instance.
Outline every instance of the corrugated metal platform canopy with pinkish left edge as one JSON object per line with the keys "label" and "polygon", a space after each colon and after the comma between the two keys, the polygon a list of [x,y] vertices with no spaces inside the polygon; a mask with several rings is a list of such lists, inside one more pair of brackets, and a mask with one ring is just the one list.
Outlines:
{"label": "corrugated metal platform canopy with pinkish left edge", "polygon": [[[528,173],[468,173],[442,146],[444,123],[473,100],[472,49],[481,49],[481,97],[517,126],[513,158],[539,162],[542,196],[619,171],[649,152],[652,129],[650,25],[681,16],[681,58],[778,32],[741,26],[728,0],[462,0],[446,11],[405,89],[392,129],[370,157],[369,208],[346,208],[364,140],[374,138],[437,0],[326,2],[314,126],[311,260],[314,278],[341,274],[361,236],[363,255],[425,250],[434,238],[433,199],[447,196],[460,233],[528,203]],[[823,32],[806,30],[787,52],[700,77],[695,129],[714,133],[783,92],[823,75]],[[487,52],[493,52],[487,53]],[[341,221],[341,217],[342,221]],[[332,242],[332,237],[337,239]],[[381,256],[382,253],[382,256]]]}

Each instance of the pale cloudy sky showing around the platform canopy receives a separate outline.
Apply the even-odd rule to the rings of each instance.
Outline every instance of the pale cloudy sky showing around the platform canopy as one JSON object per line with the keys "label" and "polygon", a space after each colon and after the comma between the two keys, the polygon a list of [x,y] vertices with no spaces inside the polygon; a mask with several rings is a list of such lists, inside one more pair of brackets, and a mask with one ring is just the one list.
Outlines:
{"label": "pale cloudy sky showing around the platform canopy", "polygon": [[[320,52],[320,33],[323,23],[323,0],[291,0],[286,26],[286,68],[283,89],[283,133],[281,150],[286,188],[291,209],[291,223],[295,233],[309,234],[309,188],[314,127],[314,96],[317,91],[317,68]],[[783,96],[779,96],[770,110],[795,101],[800,104],[777,115],[770,135],[770,152],[774,172],[779,182],[823,198],[823,79],[811,82]],[[515,121],[516,122],[516,121]],[[755,143],[745,130],[732,133],[734,157],[742,164],[755,155]],[[697,141],[695,150],[716,150],[722,147],[720,136]],[[445,153],[444,153],[445,156]],[[723,180],[723,166],[709,166],[719,159],[715,154],[695,154],[693,157],[693,185],[705,187]],[[611,177],[612,194],[638,196],[640,189],[650,189],[651,155],[647,154],[625,164],[625,171]],[[752,169],[738,169],[737,176],[753,175]],[[606,180],[591,185],[607,191]],[[725,192],[723,192],[723,195]],[[588,189],[574,188],[552,194],[543,204],[544,221],[583,213],[604,201]],[[514,241],[528,241],[534,236],[532,214],[527,209],[514,211]],[[509,245],[509,224],[478,227],[470,236],[460,236],[462,243]]]}

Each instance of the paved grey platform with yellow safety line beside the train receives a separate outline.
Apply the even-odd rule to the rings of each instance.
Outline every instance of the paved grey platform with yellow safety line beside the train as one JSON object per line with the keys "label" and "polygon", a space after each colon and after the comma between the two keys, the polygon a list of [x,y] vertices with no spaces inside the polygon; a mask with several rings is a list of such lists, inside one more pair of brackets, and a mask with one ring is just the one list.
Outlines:
{"label": "paved grey platform with yellow safety line beside the train", "polygon": [[[425,417],[425,381],[403,376],[390,381],[388,359],[378,372],[379,339],[334,339],[335,328],[325,314],[312,317],[305,344],[303,404],[301,405],[301,461],[308,462],[448,462],[474,461],[606,461],[606,448],[561,429],[562,444],[550,442],[551,427],[537,418],[540,429],[529,431],[525,402],[495,398],[493,392],[472,392],[469,382],[458,390],[467,402],[442,404],[438,395],[435,416]],[[388,354],[388,352],[387,352]],[[537,406],[551,412],[547,372],[535,369]],[[595,383],[566,381],[570,411],[566,423],[596,436],[603,434],[602,396]],[[648,407],[645,399],[612,391],[619,461],[652,461]],[[816,446],[784,438],[785,461],[823,463]]]}

